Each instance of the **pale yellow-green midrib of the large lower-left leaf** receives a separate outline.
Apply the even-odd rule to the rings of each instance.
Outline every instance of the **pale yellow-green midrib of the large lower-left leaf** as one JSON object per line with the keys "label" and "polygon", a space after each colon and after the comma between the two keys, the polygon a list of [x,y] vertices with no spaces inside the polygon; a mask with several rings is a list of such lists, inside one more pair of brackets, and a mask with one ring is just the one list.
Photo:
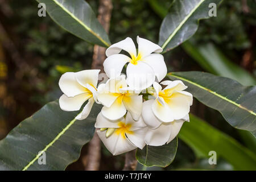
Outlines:
{"label": "pale yellow-green midrib of the large lower-left leaf", "polygon": [[[80,114],[80,113],[79,113],[79,114]],[[77,114],[77,115],[79,115],[79,114]],[[65,131],[67,131],[67,130],[69,129],[69,127],[71,127],[71,126],[73,125],[73,123],[75,123],[76,120],[77,120],[77,119],[76,119],[76,117],[75,117],[71,122],[69,122],[68,125],[67,125],[66,127],[64,127],[64,129],[61,130],[60,133],[57,134],[57,136],[56,136],[49,144],[47,144],[47,146],[44,147],[44,149],[43,149],[42,151],[40,151],[40,152],[38,153],[38,155],[36,155],[35,158],[30,161],[30,163],[27,164],[27,166],[25,166],[25,167],[22,169],[22,171],[26,171],[32,164],[34,164],[34,162],[35,162],[37,159],[39,159],[39,157],[43,154],[43,152],[46,152],[47,149],[48,149],[49,147],[51,147],[51,146],[53,145],[53,143],[55,143],[56,140],[58,140],[58,139],[65,133]]]}

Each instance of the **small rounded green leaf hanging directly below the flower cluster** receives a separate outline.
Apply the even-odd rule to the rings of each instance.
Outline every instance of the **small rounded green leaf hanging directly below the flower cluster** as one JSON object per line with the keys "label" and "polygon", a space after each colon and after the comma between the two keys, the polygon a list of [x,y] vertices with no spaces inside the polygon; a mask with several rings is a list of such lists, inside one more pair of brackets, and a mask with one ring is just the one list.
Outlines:
{"label": "small rounded green leaf hanging directly below the flower cluster", "polygon": [[148,146],[143,150],[137,149],[136,158],[139,163],[147,167],[169,166],[175,158],[177,151],[177,137],[163,146]]}

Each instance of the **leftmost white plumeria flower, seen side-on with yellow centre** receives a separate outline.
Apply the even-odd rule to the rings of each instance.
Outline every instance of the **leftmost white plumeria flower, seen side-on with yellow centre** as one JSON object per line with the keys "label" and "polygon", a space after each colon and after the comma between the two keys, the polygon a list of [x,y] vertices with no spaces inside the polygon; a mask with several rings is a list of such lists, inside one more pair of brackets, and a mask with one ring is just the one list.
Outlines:
{"label": "leftmost white plumeria flower, seen side-on with yellow centre", "polygon": [[82,112],[76,119],[85,119],[97,101],[97,82],[100,69],[67,72],[60,77],[59,86],[64,93],[60,99],[60,108],[64,111],[80,110],[82,104],[88,100]]}

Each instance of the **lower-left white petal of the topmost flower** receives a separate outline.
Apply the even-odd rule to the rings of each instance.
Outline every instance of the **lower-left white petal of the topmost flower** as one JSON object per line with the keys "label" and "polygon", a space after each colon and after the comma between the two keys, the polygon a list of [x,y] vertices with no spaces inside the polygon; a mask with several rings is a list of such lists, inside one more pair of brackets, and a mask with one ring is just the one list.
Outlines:
{"label": "lower-left white petal of the topmost flower", "polygon": [[122,54],[111,55],[103,63],[104,71],[109,78],[120,76],[123,66],[130,60],[130,57]]}

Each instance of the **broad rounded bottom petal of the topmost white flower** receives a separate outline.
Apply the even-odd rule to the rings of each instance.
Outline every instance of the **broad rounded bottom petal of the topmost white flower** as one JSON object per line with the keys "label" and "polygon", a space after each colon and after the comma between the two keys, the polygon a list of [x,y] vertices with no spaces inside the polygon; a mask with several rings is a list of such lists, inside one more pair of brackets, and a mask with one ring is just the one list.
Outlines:
{"label": "broad rounded bottom petal of the topmost white flower", "polygon": [[127,84],[135,90],[146,89],[155,81],[154,70],[143,61],[138,61],[136,65],[129,63],[126,73]]}

